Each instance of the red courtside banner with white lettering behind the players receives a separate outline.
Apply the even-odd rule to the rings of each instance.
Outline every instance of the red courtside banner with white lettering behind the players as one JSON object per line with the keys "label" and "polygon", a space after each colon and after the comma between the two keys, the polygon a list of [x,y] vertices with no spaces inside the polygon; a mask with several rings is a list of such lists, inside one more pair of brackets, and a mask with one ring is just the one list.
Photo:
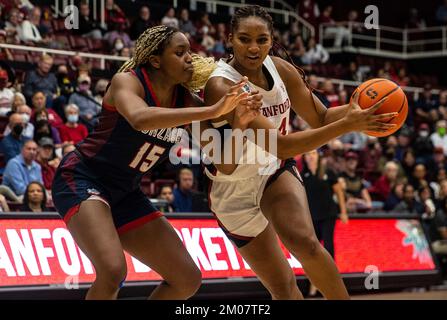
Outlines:
{"label": "red courtside banner with white lettering behind the players", "polygon": [[[204,279],[254,276],[215,220],[170,219],[170,222]],[[370,265],[380,272],[435,269],[417,220],[352,219],[346,225],[337,221],[334,241],[341,273],[363,273]],[[284,252],[295,274],[302,275],[300,263],[287,250]],[[126,281],[160,279],[136,259],[126,257]],[[63,285],[67,279],[92,282],[94,269],[62,220],[0,220],[0,287]]]}

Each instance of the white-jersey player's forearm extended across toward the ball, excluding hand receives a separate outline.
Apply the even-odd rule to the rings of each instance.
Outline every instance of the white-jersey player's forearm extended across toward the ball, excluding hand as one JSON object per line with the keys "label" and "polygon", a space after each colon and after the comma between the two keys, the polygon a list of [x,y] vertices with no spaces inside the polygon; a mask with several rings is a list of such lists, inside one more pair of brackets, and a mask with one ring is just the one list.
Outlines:
{"label": "white-jersey player's forearm extended across toward the ball, excluding hand", "polygon": [[350,132],[344,119],[334,121],[324,127],[294,132],[279,136],[277,139],[277,153],[280,159],[295,157],[297,154],[315,150],[328,141]]}

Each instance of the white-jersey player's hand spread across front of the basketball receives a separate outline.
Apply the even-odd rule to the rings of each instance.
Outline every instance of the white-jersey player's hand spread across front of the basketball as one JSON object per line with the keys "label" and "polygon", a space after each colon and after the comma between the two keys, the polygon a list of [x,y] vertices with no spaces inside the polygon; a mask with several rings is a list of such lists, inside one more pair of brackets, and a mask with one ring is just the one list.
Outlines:
{"label": "white-jersey player's hand spread across front of the basketball", "polygon": [[373,106],[362,109],[360,108],[359,93],[356,92],[349,104],[348,112],[344,118],[349,131],[374,131],[386,132],[396,126],[396,124],[382,122],[384,120],[392,119],[399,115],[397,112],[383,113],[375,115],[387,98],[381,99]]}

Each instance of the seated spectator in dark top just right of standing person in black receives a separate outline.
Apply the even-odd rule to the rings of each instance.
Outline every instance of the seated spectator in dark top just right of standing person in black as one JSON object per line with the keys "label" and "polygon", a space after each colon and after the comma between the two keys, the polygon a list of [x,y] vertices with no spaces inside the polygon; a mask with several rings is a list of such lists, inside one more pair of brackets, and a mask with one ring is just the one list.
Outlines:
{"label": "seated spectator in dark top just right of standing person in black", "polygon": [[346,183],[346,205],[348,212],[369,211],[372,208],[371,197],[361,176],[356,173],[358,155],[348,152],[345,155],[346,169],[341,176]]}

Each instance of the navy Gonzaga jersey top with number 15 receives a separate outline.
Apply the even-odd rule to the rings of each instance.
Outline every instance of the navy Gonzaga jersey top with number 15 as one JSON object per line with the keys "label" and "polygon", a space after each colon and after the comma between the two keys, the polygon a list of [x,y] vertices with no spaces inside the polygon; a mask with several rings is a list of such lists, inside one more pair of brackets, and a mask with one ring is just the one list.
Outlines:
{"label": "navy Gonzaga jersey top with number 15", "polygon": [[[143,84],[146,103],[159,107],[146,70],[137,67],[131,72]],[[178,85],[172,105],[184,106],[185,100],[190,101],[189,96]],[[136,188],[145,173],[169,156],[170,148],[181,140],[184,130],[174,127],[137,131],[114,106],[103,103],[99,124],[76,148],[101,178],[112,178],[114,185]]]}

